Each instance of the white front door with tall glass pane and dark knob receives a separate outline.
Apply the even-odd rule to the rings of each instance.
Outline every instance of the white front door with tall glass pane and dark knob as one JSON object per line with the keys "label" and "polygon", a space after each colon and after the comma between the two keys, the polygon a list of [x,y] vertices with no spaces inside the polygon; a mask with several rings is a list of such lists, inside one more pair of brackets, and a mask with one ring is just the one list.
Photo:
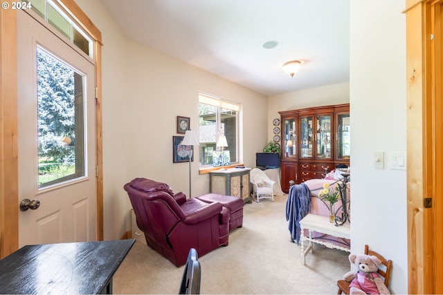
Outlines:
{"label": "white front door with tall glass pane and dark knob", "polygon": [[19,247],[96,240],[94,66],[51,30],[17,11]]}

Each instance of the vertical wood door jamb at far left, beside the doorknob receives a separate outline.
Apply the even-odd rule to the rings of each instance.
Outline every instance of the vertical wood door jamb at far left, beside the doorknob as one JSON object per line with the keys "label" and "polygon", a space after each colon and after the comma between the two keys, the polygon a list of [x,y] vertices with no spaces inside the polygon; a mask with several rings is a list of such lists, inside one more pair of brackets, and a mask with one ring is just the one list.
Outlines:
{"label": "vertical wood door jamb at far left, beside the doorknob", "polygon": [[19,247],[17,10],[0,10],[0,258]]}

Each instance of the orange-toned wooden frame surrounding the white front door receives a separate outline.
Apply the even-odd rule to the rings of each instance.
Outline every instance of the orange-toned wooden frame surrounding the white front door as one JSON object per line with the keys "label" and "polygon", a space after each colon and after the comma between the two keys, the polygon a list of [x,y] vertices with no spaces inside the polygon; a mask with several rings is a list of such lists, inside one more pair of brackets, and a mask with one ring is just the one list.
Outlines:
{"label": "orange-toned wooden frame surrounding the white front door", "polygon": [[[56,0],[94,40],[96,71],[97,240],[103,240],[102,35],[74,0]],[[19,247],[17,10],[0,10],[0,258]]]}

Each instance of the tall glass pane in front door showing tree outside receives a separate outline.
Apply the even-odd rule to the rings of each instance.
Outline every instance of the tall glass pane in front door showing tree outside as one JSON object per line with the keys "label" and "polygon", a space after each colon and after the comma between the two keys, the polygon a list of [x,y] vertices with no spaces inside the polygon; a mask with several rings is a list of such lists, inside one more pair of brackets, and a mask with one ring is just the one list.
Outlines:
{"label": "tall glass pane in front door showing tree outside", "polygon": [[84,75],[37,48],[39,187],[84,176]]}

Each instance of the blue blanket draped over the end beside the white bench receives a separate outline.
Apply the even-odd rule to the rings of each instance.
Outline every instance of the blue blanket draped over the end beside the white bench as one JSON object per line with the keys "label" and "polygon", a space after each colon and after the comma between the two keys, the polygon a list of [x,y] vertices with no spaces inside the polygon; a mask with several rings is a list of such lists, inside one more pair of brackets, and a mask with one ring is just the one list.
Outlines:
{"label": "blue blanket draped over the end beside the white bench", "polygon": [[311,193],[306,184],[294,184],[289,189],[286,202],[286,220],[289,221],[291,238],[300,242],[300,220],[311,211]]}

